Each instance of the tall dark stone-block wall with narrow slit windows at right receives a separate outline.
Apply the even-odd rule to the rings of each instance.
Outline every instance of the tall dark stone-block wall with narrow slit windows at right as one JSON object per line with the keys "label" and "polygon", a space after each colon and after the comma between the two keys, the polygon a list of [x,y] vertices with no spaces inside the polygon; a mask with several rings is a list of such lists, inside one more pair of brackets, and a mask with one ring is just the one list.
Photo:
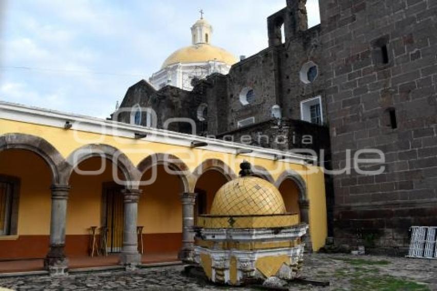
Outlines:
{"label": "tall dark stone-block wall with narrow slit windows at right", "polygon": [[386,158],[382,174],[334,176],[336,239],[405,245],[410,226],[437,225],[437,2],[319,3],[334,168],[348,149]]}

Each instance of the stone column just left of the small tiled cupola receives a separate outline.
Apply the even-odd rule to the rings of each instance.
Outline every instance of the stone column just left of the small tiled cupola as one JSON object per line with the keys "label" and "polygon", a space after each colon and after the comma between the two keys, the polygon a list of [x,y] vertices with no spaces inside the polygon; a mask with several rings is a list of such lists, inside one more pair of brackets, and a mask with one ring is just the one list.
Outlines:
{"label": "stone column just left of the small tiled cupola", "polygon": [[194,262],[194,204],[196,193],[183,193],[182,201],[182,248],[179,251],[179,260],[184,263]]}

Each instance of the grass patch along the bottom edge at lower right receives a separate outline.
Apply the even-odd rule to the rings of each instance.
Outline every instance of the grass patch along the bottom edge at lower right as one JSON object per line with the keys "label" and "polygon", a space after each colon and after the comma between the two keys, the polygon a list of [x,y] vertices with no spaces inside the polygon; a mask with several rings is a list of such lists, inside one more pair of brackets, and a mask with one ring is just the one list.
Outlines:
{"label": "grass patch along the bottom edge at lower right", "polygon": [[399,279],[392,276],[363,276],[350,280],[354,290],[369,290],[370,288],[381,291],[428,291],[424,284],[409,280]]}

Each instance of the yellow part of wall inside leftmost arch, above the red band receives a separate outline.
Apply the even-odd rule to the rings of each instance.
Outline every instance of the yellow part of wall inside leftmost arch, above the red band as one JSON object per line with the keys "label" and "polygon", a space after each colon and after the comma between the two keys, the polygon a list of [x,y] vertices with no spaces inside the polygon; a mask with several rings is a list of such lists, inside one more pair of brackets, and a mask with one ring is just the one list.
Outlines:
{"label": "yellow part of wall inside leftmost arch, above the red band", "polygon": [[51,174],[37,154],[25,150],[0,152],[0,174],[20,178],[18,234],[50,233]]}

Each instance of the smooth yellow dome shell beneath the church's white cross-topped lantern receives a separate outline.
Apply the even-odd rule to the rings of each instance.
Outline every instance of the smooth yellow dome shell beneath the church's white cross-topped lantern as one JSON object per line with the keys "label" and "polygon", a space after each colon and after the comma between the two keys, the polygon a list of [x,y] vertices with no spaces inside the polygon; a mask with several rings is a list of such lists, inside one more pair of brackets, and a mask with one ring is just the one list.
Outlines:
{"label": "smooth yellow dome shell beneath the church's white cross-topped lantern", "polygon": [[233,65],[236,58],[223,48],[207,43],[197,43],[176,50],[162,64],[161,69],[177,63],[205,63],[208,61],[223,62]]}

